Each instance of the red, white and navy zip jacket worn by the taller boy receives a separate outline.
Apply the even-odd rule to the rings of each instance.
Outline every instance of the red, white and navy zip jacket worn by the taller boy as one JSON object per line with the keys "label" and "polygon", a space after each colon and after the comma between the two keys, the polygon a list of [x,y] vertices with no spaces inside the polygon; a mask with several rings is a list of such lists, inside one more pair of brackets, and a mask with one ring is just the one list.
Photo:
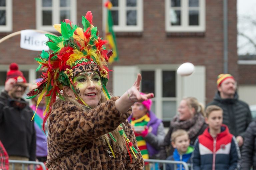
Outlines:
{"label": "red, white and navy zip jacket worn by the taller boy", "polygon": [[222,125],[221,132],[213,138],[209,128],[198,136],[192,155],[194,170],[234,170],[239,166],[240,150],[236,138]]}

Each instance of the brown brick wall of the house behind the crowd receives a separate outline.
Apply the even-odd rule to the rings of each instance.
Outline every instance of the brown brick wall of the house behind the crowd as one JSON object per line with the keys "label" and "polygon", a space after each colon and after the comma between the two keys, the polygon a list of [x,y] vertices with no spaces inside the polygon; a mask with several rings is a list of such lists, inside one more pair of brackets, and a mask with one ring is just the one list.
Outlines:
{"label": "brown brick wall of the house behind the crowd", "polygon": [[[229,73],[238,76],[236,47],[236,1],[228,1],[228,56]],[[133,64],[181,64],[192,62],[206,66],[207,103],[213,99],[216,77],[223,72],[223,1],[206,0],[206,31],[198,37],[172,37],[165,32],[164,0],[144,1],[142,34],[118,36],[119,62],[113,65]],[[13,0],[13,32],[35,29],[35,0]],[[88,10],[93,13],[93,23],[102,36],[102,1],[77,0],[77,23],[81,26],[81,15]],[[0,38],[7,35],[0,33]],[[35,64],[33,60],[40,52],[21,49],[20,37],[16,36],[0,44],[0,64],[17,62]],[[113,66],[112,65],[112,66]],[[112,68],[110,66],[110,68]],[[110,74],[112,77],[112,73]],[[111,78],[108,89],[112,89]]]}

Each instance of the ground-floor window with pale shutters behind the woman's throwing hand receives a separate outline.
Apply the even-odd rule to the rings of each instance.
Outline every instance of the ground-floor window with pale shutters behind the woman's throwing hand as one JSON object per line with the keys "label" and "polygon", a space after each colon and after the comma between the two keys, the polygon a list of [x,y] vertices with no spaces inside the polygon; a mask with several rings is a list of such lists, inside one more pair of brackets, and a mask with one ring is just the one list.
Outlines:
{"label": "ground-floor window with pale shutters behind the woman's throwing hand", "polygon": [[142,74],[140,91],[153,92],[151,110],[169,127],[170,120],[178,113],[180,101],[193,96],[205,104],[205,66],[195,66],[190,76],[180,76],[176,70],[180,64],[141,64],[113,66],[113,94],[122,96],[131,88],[138,73]]}

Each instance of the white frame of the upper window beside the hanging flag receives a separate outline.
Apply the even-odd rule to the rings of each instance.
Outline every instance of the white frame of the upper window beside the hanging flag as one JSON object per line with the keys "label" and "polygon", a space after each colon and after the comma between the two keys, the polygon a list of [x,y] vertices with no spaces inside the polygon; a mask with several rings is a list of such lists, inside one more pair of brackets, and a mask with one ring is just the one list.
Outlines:
{"label": "white frame of the upper window beside the hanging flag", "polygon": [[[103,2],[103,30],[105,30],[106,19],[107,19],[107,9],[104,6],[106,0]],[[118,7],[112,7],[112,9],[118,10],[118,26],[113,26],[114,32],[142,32],[143,31],[143,0],[137,0],[137,25],[127,26],[126,25],[126,11],[127,9],[134,9],[135,7],[127,7],[126,0],[118,0]]]}

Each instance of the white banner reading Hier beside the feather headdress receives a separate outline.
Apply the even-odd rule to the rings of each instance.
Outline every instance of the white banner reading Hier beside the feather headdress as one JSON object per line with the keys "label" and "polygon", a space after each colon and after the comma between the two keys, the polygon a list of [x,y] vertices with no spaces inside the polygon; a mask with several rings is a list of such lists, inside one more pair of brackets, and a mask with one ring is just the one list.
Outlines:
{"label": "white banner reading Hier beside the feather headdress", "polygon": [[22,30],[20,33],[20,47],[33,51],[49,51],[49,47],[45,42],[49,41],[44,33],[34,30]]}

